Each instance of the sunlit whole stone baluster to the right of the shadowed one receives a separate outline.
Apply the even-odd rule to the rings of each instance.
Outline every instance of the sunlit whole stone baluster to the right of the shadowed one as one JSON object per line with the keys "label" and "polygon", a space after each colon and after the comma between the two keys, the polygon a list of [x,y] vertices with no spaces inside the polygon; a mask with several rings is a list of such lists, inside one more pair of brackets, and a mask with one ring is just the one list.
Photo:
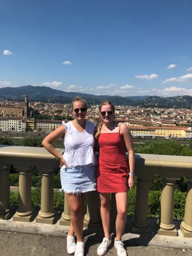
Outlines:
{"label": "sunlit whole stone baluster to the right of the shadowed one", "polygon": [[161,194],[161,208],[158,223],[158,234],[177,237],[177,230],[173,223],[174,214],[174,178],[163,178],[163,189]]}

